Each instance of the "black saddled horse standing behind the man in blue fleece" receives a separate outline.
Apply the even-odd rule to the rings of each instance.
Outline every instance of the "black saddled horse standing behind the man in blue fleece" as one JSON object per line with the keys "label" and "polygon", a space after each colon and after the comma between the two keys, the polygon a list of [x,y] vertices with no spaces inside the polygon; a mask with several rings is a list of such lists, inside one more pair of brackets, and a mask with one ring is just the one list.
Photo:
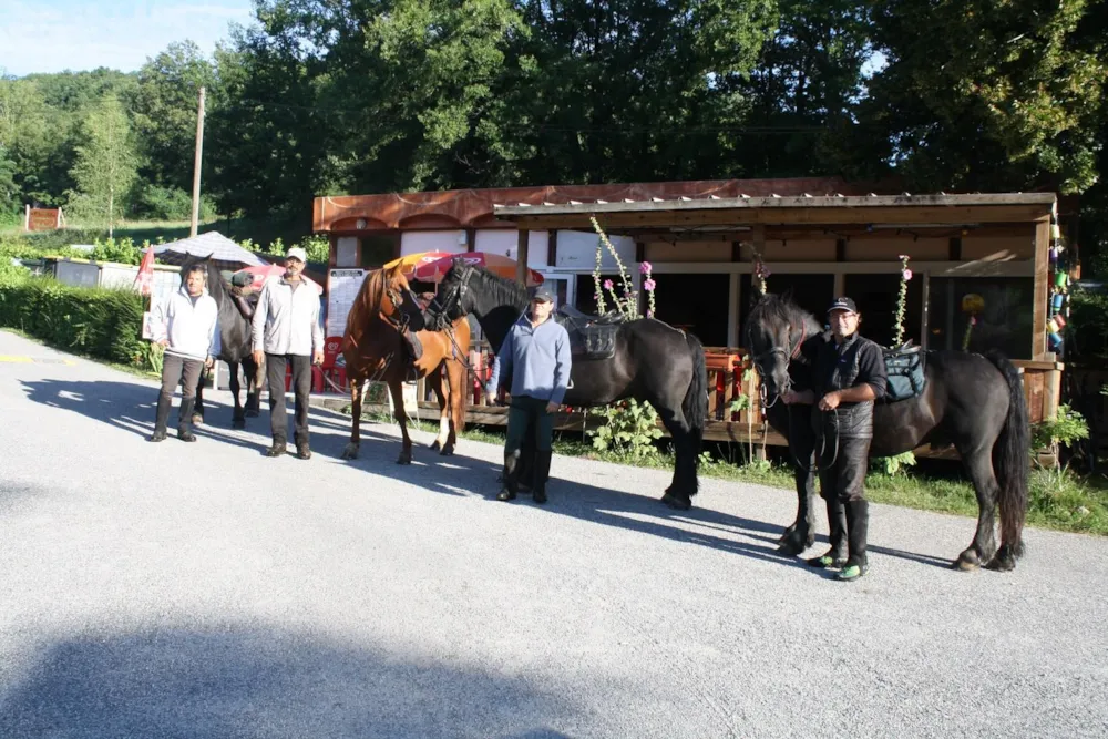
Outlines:
{"label": "black saddled horse standing behind the man in blue fleece", "polygon": [[[494,351],[527,307],[519,283],[455,259],[439,285],[429,311],[453,320],[472,314]],[[433,316],[432,316],[433,320]],[[686,333],[653,318],[623,322],[608,359],[576,356],[570,372],[567,406],[605,406],[635,398],[649,402],[674,441],[674,480],[661,501],[689,509],[699,489],[698,455],[708,415],[708,376],[704,347]]]}

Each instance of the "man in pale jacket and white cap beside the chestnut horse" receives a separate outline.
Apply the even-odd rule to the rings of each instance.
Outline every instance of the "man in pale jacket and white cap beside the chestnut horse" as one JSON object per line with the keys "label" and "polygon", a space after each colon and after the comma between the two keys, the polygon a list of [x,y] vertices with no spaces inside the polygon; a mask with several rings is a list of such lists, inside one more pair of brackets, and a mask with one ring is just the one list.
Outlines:
{"label": "man in pale jacket and white cap beside the chestnut horse", "polygon": [[265,352],[266,380],[269,386],[269,423],[274,443],[266,456],[285,453],[288,420],[285,415],[285,371],[293,367],[296,455],[311,458],[308,444],[308,394],[311,392],[311,365],[324,363],[324,329],[319,326],[319,296],[300,277],[308,255],[293,247],[285,255],[285,275],[271,277],[261,287],[254,309],[254,361]]}

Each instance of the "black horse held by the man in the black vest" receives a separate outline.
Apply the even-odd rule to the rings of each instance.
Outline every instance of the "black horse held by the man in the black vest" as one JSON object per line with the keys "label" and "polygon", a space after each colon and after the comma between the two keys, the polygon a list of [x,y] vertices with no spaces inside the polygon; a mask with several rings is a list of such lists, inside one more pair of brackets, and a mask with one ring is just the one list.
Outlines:
{"label": "black horse held by the man in the black vest", "polygon": [[[811,406],[779,401],[793,382],[806,382],[813,343],[830,340],[811,314],[789,298],[763,296],[747,319],[746,347],[761,378],[767,420],[789,440],[797,470],[797,520],[781,537],[781,548],[799,554],[814,542],[812,500],[818,439]],[[1012,569],[1023,554],[1030,472],[1027,406],[1016,368],[996,352],[929,351],[926,384],[917,397],[878,402],[873,412],[871,456],[893,456],[921,444],[953,444],[977,494],[977,531],[954,566]],[[825,440],[833,443],[833,440]],[[994,513],[1001,511],[1001,546],[994,538]]]}

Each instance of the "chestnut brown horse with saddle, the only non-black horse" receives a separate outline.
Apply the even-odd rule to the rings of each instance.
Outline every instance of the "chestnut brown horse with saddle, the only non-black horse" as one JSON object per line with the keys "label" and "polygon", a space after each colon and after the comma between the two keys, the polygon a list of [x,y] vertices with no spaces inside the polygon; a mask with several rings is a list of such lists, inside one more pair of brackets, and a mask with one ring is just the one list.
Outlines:
{"label": "chestnut brown horse with saddle, the only non-black horse", "polygon": [[[422,346],[422,355],[414,362],[403,338],[407,329],[414,332]],[[353,420],[350,443],[342,459],[358,456],[363,384],[375,380],[389,384],[396,419],[403,434],[397,463],[411,464],[412,442],[408,437],[402,383],[413,376],[427,378],[439,399],[439,433],[431,449],[440,450],[443,455],[453,454],[458,434],[465,428],[465,353],[469,346],[470,325],[464,317],[442,331],[423,330],[423,316],[399,267],[389,271],[376,269],[367,275],[350,308],[342,338]]]}

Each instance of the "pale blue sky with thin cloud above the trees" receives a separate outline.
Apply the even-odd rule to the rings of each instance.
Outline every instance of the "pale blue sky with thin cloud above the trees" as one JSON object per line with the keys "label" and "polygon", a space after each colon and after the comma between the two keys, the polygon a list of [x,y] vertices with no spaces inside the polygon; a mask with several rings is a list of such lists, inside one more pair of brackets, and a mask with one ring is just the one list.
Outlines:
{"label": "pale blue sky with thin cloud above the trees", "polygon": [[252,0],[0,0],[0,73],[133,72],[185,40],[211,54],[252,10]]}

